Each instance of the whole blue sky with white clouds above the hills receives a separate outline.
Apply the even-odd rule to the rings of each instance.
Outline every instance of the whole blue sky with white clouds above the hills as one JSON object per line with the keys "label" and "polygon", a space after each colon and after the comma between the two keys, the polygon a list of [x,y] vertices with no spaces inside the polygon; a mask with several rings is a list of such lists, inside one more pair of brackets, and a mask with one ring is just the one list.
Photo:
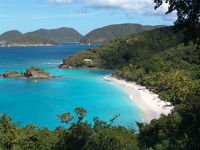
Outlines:
{"label": "whole blue sky with white clouds above the hills", "polygon": [[0,34],[71,27],[85,35],[111,24],[172,25],[167,4],[154,10],[153,0],[0,0]]}

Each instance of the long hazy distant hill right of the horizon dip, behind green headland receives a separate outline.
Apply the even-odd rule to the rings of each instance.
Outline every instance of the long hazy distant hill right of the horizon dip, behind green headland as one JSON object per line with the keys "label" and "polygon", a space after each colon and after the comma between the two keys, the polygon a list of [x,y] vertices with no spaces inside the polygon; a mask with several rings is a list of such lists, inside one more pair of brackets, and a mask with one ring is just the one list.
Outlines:
{"label": "long hazy distant hill right of the horizon dip, behind green headland", "polygon": [[116,24],[95,29],[85,35],[80,43],[102,44],[138,32],[152,30],[163,26],[145,26],[140,24]]}

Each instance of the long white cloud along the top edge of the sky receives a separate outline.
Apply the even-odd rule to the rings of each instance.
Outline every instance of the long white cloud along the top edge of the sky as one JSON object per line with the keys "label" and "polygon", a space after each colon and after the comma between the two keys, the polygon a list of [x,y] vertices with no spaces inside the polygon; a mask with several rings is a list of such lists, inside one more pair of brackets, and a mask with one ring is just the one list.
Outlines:
{"label": "long white cloud along the top edge of the sky", "polygon": [[70,4],[81,3],[83,8],[106,8],[123,10],[127,13],[164,15],[168,4],[164,4],[157,10],[154,10],[153,0],[48,0],[50,3]]}

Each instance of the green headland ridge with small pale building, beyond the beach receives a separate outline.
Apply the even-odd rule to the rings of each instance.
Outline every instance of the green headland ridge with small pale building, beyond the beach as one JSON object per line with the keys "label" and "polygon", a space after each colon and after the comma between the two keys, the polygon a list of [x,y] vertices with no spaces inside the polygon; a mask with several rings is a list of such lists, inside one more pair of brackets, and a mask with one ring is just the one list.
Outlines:
{"label": "green headland ridge with small pale building, beyond the beach", "polygon": [[[117,69],[128,63],[146,59],[150,55],[174,47],[182,42],[182,34],[174,34],[171,27],[133,34],[100,48],[89,49],[69,56],[62,68]],[[91,59],[87,62],[84,59]]]}

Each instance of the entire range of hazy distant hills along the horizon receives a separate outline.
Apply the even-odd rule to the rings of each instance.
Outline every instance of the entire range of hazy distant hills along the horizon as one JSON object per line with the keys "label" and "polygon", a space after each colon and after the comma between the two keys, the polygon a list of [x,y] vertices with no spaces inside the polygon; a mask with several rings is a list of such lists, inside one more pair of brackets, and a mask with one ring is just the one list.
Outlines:
{"label": "entire range of hazy distant hills along the horizon", "polygon": [[149,26],[140,24],[115,24],[95,29],[85,36],[73,28],[39,29],[33,32],[21,33],[11,30],[0,35],[1,47],[15,46],[55,46],[59,43],[77,42],[80,44],[104,44],[118,38],[163,26]]}

